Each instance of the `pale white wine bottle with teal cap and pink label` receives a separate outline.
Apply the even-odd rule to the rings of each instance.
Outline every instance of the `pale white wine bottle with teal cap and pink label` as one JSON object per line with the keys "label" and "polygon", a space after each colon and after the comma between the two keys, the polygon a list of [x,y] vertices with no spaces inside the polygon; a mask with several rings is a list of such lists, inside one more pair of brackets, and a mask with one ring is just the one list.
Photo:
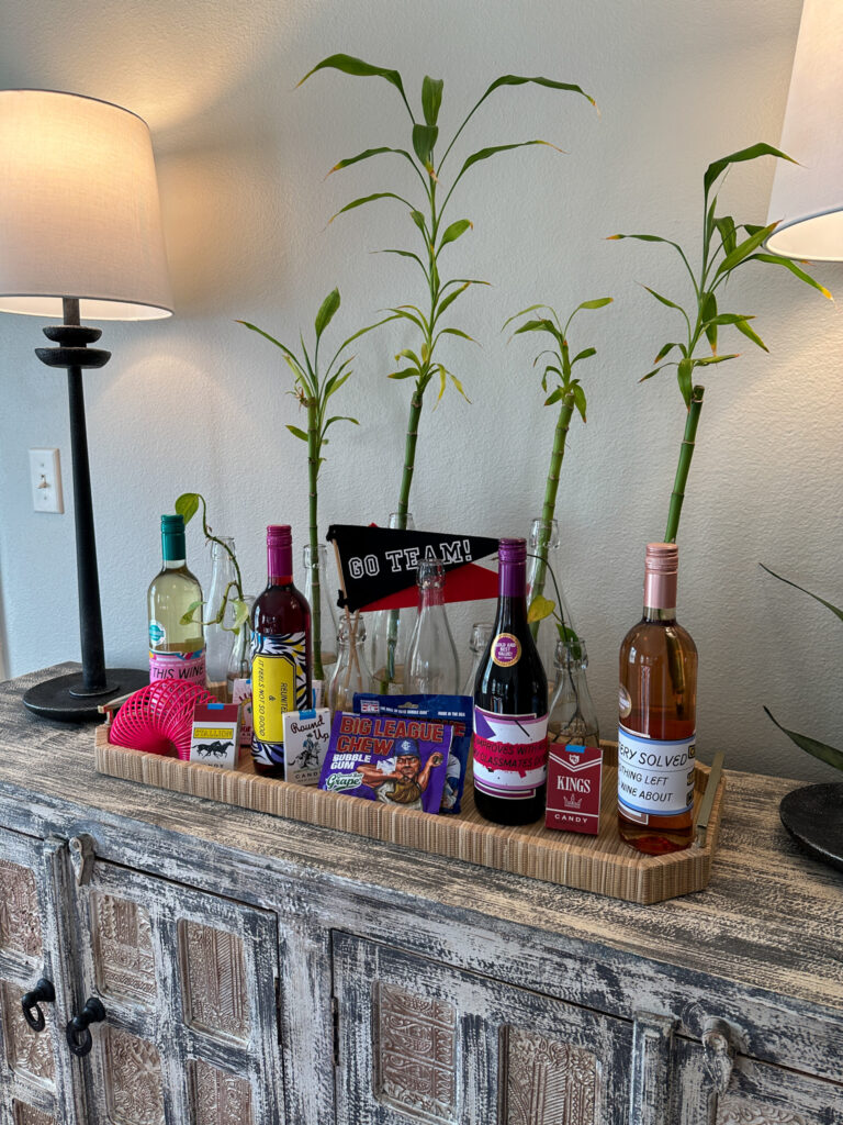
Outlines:
{"label": "pale white wine bottle with teal cap and pink label", "polygon": [[[161,516],[164,565],[146,595],[149,615],[149,682],[184,680],[205,686],[205,634],[201,626],[202,587],[188,570],[184,520]],[[182,624],[191,605],[194,621]]]}

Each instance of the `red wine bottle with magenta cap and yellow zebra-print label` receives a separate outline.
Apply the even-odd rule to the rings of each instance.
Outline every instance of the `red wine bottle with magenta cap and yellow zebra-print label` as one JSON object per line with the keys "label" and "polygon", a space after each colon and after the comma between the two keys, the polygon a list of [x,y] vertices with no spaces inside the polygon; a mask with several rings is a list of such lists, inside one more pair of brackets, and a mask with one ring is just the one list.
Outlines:
{"label": "red wine bottle with magenta cap and yellow zebra-print label", "polygon": [[252,709],[255,770],[284,773],[284,712],[312,706],[310,606],[292,584],[292,536],[266,528],[269,583],[252,610]]}

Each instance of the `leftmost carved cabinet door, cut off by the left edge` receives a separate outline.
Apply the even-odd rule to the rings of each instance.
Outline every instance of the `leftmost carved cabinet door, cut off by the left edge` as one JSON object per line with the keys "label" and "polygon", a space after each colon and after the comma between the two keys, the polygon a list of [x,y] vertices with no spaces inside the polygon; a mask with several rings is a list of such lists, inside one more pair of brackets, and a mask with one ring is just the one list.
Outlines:
{"label": "leftmost carved cabinet door, cut off by the left edge", "polygon": [[[66,918],[66,848],[0,829],[0,1122],[2,1125],[72,1125],[82,1122],[79,1066],[63,1028],[75,1001]],[[54,1000],[21,1000],[45,979]]]}

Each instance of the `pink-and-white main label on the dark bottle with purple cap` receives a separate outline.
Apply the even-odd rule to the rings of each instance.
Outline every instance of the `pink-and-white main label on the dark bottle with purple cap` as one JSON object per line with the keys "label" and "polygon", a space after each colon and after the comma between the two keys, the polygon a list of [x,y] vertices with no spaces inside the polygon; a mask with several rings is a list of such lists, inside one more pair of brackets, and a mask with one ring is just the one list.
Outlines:
{"label": "pink-and-white main label on the dark bottle with purple cap", "polygon": [[519,801],[547,780],[547,716],[496,714],[474,704],[474,785]]}

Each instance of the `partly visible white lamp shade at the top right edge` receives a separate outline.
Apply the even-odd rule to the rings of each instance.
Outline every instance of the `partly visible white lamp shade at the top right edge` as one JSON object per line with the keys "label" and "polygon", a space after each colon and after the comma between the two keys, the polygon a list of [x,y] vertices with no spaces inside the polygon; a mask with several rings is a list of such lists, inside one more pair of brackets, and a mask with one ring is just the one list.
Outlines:
{"label": "partly visible white lamp shade at the top right edge", "polygon": [[843,0],[805,0],[780,147],[768,249],[843,261]]}

